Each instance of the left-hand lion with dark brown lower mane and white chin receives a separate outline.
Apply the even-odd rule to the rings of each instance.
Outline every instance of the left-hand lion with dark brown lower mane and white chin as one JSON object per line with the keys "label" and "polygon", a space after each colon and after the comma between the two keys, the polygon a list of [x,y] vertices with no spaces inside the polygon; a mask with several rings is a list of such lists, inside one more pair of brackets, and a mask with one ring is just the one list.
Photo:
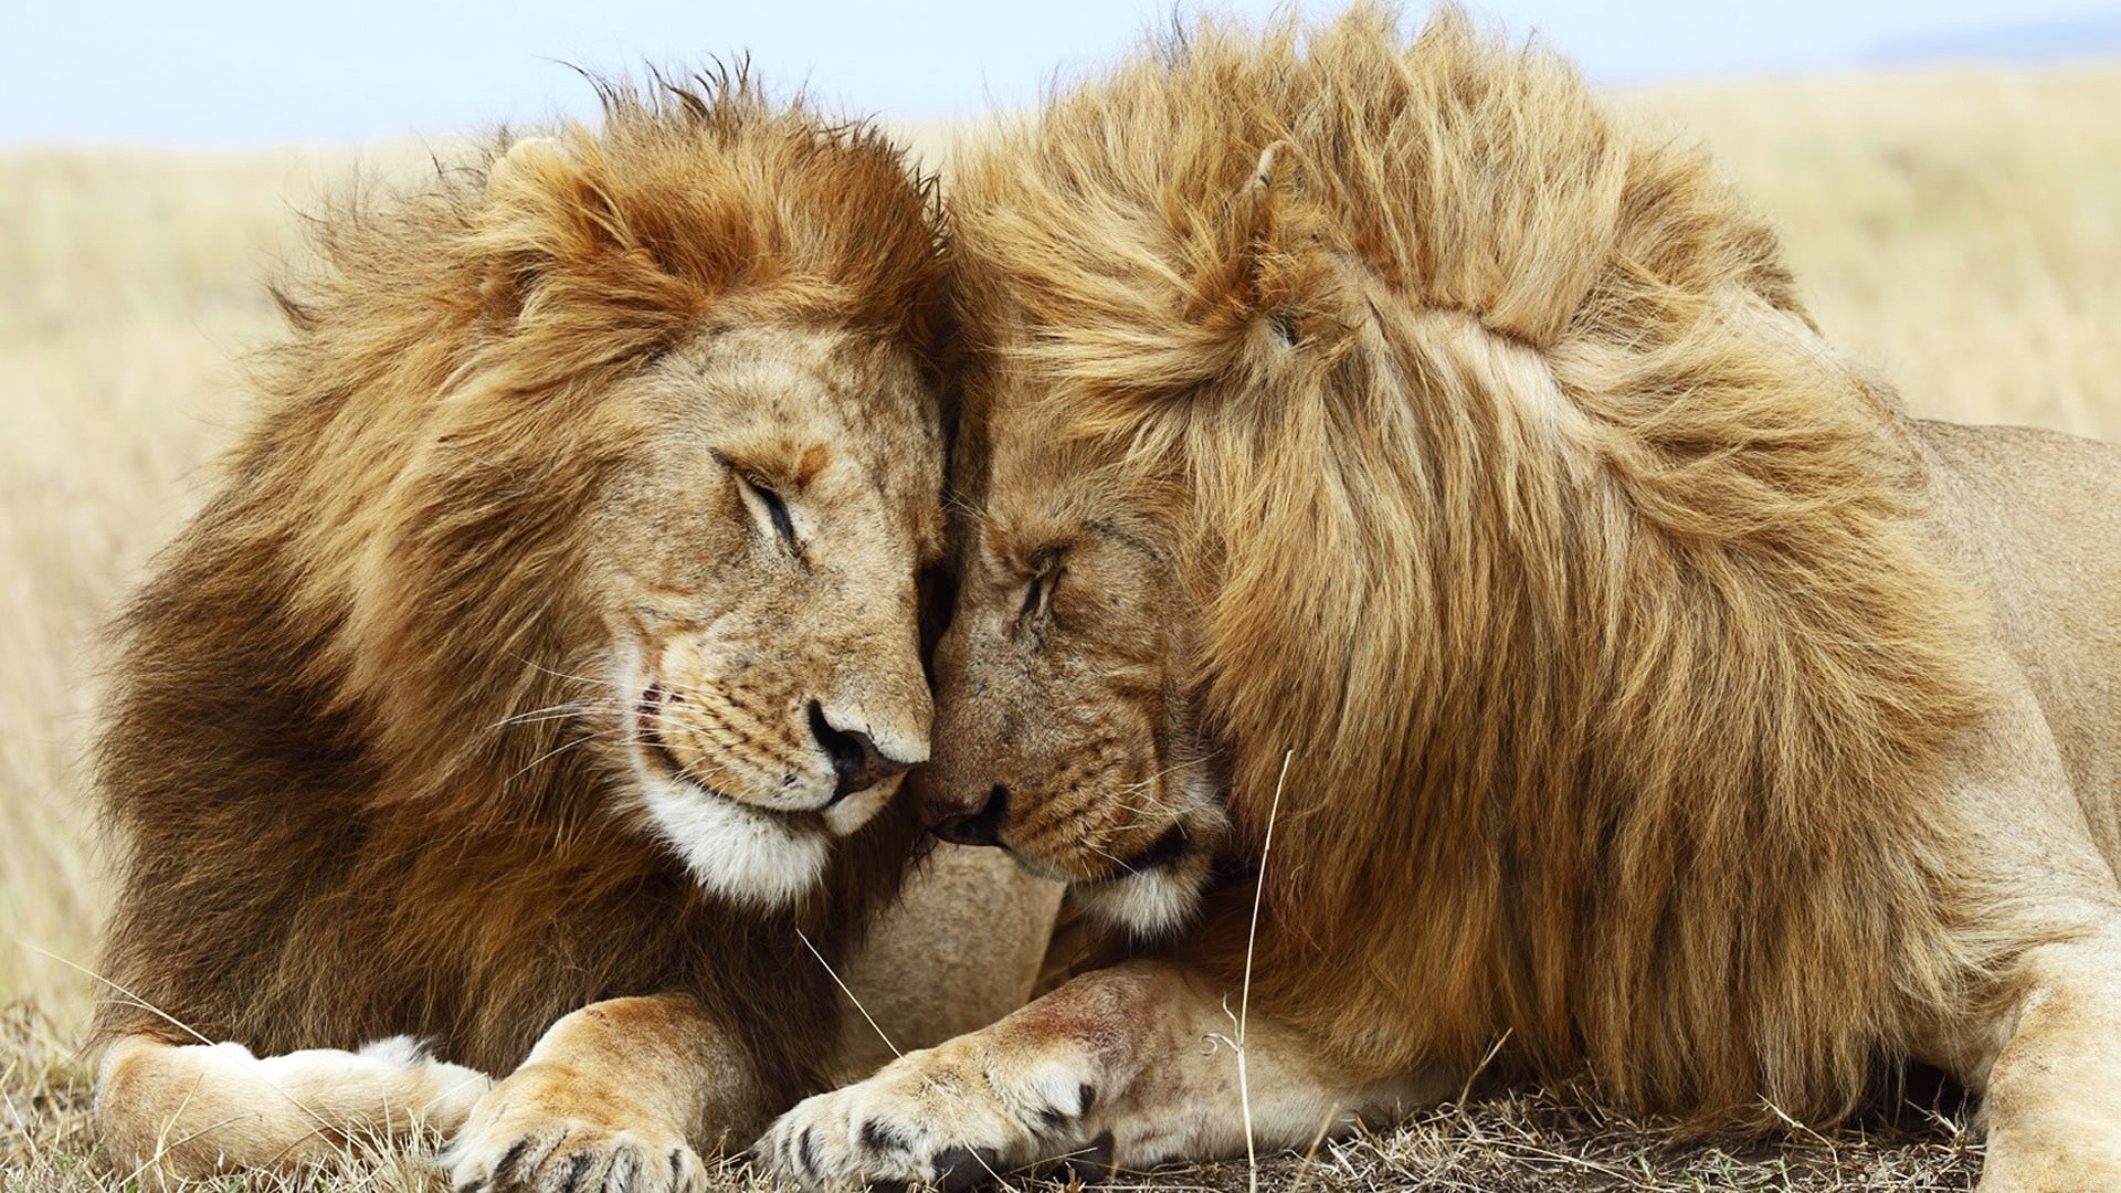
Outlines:
{"label": "left-hand lion with dark brown lower mane and white chin", "polygon": [[[880,132],[740,74],[320,223],[119,618],[117,1172],[431,1129],[462,1189],[698,1189],[844,1076],[836,970],[921,853],[940,231]],[[957,1030],[1044,949],[978,875],[935,879],[986,930]]]}

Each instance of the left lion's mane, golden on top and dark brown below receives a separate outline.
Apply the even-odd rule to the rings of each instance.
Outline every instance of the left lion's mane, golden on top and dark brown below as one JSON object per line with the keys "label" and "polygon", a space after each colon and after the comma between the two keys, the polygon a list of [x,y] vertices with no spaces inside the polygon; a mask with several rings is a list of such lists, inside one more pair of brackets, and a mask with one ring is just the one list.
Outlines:
{"label": "left lion's mane, golden on top and dark brown below", "polygon": [[[611,378],[702,327],[817,316],[935,357],[933,193],[861,127],[749,83],[613,87],[564,172],[496,146],[316,223],[293,335],[218,495],[123,611],[95,751],[123,841],[98,1034],[259,1053],[416,1034],[511,1070],[585,1002],[685,989],[761,1093],[817,1087],[827,972],[918,828],[761,913],[596,807],[573,749],[600,626],[581,512],[628,435]],[[146,1008],[153,1010],[146,1010]],[[163,1015],[168,1019],[163,1019]]]}

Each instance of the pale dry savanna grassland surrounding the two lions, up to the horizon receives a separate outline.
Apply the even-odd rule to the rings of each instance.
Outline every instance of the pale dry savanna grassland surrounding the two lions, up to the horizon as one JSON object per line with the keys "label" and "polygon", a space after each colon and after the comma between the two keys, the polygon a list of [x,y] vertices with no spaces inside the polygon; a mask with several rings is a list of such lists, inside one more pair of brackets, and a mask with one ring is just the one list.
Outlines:
{"label": "pale dry savanna grassland surrounding the two lions, up to the horizon", "polygon": [[[2121,68],[1924,70],[1614,96],[1703,138],[1784,229],[1813,314],[1930,416],[2121,439]],[[935,140],[935,138],[929,138]],[[299,212],[356,166],[424,151],[0,151],[0,1193],[91,1193],[98,862],[81,743],[100,616],[197,505],[276,333],[261,274],[299,263]],[[1582,1087],[1474,1097],[1389,1134],[1262,1161],[1275,1189],[1966,1189],[1949,1097],[1833,1136],[1680,1142]],[[1092,1176],[1234,1189],[1243,1163]],[[753,1185],[740,1168],[717,1178]],[[229,1193],[274,1182],[223,1180]],[[418,1155],[320,1193],[441,1191]],[[1016,1182],[1022,1187],[1024,1182]]]}

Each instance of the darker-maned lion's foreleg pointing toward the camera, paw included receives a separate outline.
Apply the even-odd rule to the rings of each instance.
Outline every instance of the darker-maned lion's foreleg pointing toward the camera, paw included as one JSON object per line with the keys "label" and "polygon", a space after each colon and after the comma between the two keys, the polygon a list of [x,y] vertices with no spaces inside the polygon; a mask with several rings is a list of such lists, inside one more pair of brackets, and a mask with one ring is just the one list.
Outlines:
{"label": "darker-maned lion's foreleg pointing toward the camera, paw included", "polygon": [[691,996],[560,1019],[450,1144],[460,1193],[694,1193],[702,1148],[764,1110],[749,1061]]}

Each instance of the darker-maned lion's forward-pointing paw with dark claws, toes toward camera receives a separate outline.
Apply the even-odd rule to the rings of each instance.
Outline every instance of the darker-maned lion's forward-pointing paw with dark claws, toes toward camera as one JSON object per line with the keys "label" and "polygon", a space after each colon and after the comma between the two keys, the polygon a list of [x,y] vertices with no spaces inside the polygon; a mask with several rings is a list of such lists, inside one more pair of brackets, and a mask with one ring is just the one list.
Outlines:
{"label": "darker-maned lion's forward-pointing paw with dark claws, toes toward camera", "polygon": [[651,1114],[568,1095],[522,1070],[494,1087],[443,1161],[456,1193],[704,1193],[706,1165]]}

